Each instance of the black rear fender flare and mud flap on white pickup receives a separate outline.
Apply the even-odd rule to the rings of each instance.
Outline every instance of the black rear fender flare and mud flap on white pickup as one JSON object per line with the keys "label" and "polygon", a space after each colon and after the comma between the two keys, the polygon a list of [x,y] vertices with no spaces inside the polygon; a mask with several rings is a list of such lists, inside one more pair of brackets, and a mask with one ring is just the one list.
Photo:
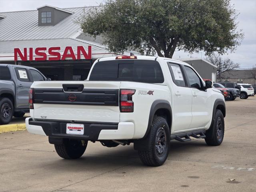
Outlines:
{"label": "black rear fender flare and mud flap on white pickup", "polygon": [[149,144],[148,144],[148,134],[150,132],[151,129],[151,125],[154,119],[154,114],[156,113],[156,111],[158,109],[166,109],[169,111],[170,113],[170,122],[167,122],[168,125],[170,125],[170,128],[172,126],[172,108],[170,106],[170,103],[166,100],[155,100],[150,108],[150,113],[149,113],[149,118],[148,118],[148,127],[146,130],[145,135],[143,136],[143,138],[139,139],[139,140],[134,140],[134,149],[135,150],[148,150],[149,148]]}

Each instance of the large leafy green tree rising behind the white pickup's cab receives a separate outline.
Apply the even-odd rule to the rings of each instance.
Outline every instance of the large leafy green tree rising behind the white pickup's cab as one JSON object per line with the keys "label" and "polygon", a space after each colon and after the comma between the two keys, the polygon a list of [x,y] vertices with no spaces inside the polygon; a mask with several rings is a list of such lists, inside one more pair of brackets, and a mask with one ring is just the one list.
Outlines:
{"label": "large leafy green tree rising behind the white pickup's cab", "polygon": [[138,50],[172,58],[176,48],[224,54],[243,38],[230,0],[106,0],[77,22],[104,37],[111,52]]}

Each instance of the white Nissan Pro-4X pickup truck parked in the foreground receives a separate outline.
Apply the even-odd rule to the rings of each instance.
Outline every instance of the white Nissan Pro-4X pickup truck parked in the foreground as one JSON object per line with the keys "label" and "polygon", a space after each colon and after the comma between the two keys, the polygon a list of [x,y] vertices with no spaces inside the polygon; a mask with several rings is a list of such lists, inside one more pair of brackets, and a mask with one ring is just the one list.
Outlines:
{"label": "white Nissan Pro-4X pickup truck parked in the foreground", "polygon": [[88,141],[133,143],[142,162],[162,165],[170,140],[224,137],[224,97],[188,64],[169,58],[118,56],[94,62],[86,81],[34,82],[28,132],[49,137],[58,155],[80,158]]}

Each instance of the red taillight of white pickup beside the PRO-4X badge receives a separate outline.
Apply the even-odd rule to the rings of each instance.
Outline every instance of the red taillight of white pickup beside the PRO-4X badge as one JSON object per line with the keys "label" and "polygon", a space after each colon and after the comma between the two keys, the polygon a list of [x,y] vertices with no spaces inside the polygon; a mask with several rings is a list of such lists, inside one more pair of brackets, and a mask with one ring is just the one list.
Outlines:
{"label": "red taillight of white pickup beside the PRO-4X badge", "polygon": [[135,91],[134,89],[120,89],[120,112],[133,112],[132,95]]}

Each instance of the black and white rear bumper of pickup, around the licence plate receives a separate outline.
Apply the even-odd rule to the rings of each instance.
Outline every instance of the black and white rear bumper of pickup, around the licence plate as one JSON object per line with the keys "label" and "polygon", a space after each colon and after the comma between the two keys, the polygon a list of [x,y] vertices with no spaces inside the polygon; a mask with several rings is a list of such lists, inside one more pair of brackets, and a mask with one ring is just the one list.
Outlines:
{"label": "black and white rear bumper of pickup, around the licence plate", "polygon": [[134,124],[132,122],[74,122],[84,124],[83,135],[66,134],[67,123],[70,122],[33,121],[32,118],[26,118],[26,128],[32,134],[81,140],[123,140],[132,139],[134,136]]}

